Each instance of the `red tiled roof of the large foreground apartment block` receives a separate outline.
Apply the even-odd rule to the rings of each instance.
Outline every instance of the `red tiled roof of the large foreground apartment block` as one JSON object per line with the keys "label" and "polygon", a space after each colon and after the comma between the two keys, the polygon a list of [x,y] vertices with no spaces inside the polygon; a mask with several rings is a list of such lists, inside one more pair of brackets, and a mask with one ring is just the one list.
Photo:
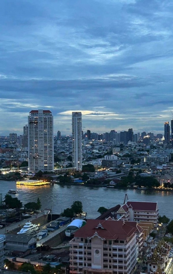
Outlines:
{"label": "red tiled roof of the large foreground apartment block", "polygon": [[[96,228],[99,223],[104,229]],[[87,238],[97,232],[97,234],[104,239],[126,240],[135,230],[136,227],[130,226],[128,222],[89,219],[85,226],[76,231],[75,237]]]}

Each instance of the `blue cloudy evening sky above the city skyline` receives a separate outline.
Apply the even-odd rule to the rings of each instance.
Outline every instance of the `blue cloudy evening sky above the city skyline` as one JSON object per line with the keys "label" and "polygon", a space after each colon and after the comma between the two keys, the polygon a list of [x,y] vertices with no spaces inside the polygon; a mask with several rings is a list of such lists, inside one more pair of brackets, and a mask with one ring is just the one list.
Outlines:
{"label": "blue cloudy evening sky above the city skyline", "polygon": [[5,0],[0,9],[0,135],[33,109],[54,133],[163,133],[173,111],[172,0]]}

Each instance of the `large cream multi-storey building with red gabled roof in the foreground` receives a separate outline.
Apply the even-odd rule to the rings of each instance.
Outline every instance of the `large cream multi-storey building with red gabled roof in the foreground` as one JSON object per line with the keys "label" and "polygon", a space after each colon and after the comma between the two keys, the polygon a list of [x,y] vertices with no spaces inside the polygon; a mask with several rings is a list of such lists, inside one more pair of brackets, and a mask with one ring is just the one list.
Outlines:
{"label": "large cream multi-storey building with red gabled roof in the foreground", "polygon": [[70,241],[70,273],[129,274],[137,262],[136,227],[89,219]]}

